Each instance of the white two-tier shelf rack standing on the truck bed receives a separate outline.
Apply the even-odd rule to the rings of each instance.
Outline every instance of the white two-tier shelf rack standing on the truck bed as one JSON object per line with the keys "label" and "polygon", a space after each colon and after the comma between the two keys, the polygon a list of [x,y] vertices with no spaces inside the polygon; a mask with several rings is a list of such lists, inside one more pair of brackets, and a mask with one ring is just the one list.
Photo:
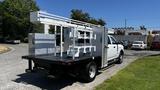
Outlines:
{"label": "white two-tier shelf rack standing on the truck bed", "polygon": [[92,45],[92,40],[96,40],[96,34],[92,30],[76,29],[69,33],[70,38],[75,42],[67,50],[68,56],[79,57],[80,53],[86,54],[96,51],[96,46]]}

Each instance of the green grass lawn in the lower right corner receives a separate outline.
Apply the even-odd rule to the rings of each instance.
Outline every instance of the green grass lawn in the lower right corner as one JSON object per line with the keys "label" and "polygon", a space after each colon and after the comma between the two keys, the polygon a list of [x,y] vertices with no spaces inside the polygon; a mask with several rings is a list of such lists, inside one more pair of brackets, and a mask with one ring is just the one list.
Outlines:
{"label": "green grass lawn in the lower right corner", "polygon": [[160,56],[136,60],[96,90],[160,90]]}

